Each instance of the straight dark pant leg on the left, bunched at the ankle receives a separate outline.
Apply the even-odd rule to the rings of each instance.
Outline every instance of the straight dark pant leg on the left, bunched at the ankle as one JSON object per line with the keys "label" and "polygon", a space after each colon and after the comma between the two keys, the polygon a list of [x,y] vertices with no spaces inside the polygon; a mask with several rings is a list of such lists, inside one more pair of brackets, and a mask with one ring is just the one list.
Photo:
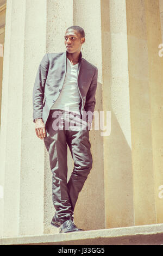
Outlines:
{"label": "straight dark pant leg on the left, bunched at the ankle", "polygon": [[[65,130],[54,130],[53,112],[51,110],[47,123],[44,143],[49,154],[49,162],[52,171],[52,200],[56,215],[59,217],[60,222],[64,222],[71,215],[73,211],[71,202],[67,193],[67,143]],[[62,112],[59,112],[61,119]],[[64,124],[63,124],[64,127]]]}

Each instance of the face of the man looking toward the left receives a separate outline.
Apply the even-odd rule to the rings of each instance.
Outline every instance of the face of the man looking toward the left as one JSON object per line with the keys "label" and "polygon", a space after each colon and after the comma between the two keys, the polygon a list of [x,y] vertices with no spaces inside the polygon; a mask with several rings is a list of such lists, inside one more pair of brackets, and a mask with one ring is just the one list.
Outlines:
{"label": "face of the man looking toward the left", "polygon": [[82,44],[85,42],[85,38],[81,38],[81,35],[74,29],[68,29],[65,33],[65,46],[68,53],[80,52]]}

